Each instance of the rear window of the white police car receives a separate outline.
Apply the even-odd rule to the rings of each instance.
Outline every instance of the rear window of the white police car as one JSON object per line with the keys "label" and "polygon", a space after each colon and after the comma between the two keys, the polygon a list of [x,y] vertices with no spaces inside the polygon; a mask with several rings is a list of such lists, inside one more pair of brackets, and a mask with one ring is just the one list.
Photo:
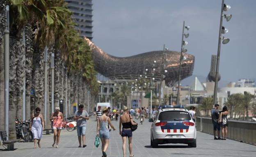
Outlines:
{"label": "rear window of the white police car", "polygon": [[185,111],[165,111],[161,112],[158,120],[173,121],[173,120],[190,120],[190,114]]}

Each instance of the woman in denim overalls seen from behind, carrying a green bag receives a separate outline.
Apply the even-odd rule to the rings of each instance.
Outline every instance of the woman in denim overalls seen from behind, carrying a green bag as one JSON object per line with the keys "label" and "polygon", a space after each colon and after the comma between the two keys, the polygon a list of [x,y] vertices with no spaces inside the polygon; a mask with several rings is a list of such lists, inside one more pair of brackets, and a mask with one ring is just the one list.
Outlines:
{"label": "woman in denim overalls seen from behind, carrying a green bag", "polygon": [[113,130],[116,130],[116,128],[114,128],[114,126],[111,123],[110,117],[107,116],[108,110],[109,109],[107,107],[104,107],[102,109],[102,115],[98,118],[97,122],[97,135],[100,135],[101,138],[101,150],[103,157],[107,157],[106,151],[110,138],[108,125],[110,125],[111,128],[113,128]]}

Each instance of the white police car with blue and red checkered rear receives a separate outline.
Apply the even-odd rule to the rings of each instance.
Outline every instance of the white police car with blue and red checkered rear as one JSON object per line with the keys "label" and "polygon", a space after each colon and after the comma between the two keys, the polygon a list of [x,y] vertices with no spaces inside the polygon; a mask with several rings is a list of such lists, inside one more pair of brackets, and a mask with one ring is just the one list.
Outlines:
{"label": "white police car with blue and red checkered rear", "polygon": [[192,116],[184,106],[161,106],[151,124],[151,146],[158,144],[188,144],[197,147],[197,130]]}

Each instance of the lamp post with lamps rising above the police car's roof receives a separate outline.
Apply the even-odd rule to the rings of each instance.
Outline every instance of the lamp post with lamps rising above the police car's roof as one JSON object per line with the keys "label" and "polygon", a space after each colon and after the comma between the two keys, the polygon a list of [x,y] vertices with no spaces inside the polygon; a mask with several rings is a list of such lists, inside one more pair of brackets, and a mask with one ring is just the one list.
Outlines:
{"label": "lamp post with lamps rising above the police car's roof", "polygon": [[[181,61],[185,60],[183,53],[187,52],[187,49],[183,49],[183,46],[187,45],[187,41],[183,40],[183,37],[187,38],[189,34],[184,33],[184,28],[189,30],[189,26],[185,26],[185,21],[183,21],[183,29],[182,29],[182,39],[181,39],[181,57],[180,57],[180,64],[179,64],[179,78],[178,78],[178,92],[177,92],[177,105],[180,103],[180,84],[181,84]],[[185,64],[184,64],[185,65]]]}

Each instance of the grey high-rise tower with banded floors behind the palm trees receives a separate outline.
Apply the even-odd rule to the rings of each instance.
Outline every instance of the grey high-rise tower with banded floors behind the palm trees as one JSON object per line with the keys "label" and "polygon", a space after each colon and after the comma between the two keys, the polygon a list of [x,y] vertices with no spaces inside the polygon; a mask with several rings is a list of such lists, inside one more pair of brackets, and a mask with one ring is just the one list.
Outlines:
{"label": "grey high-rise tower with banded floors behind the palm trees", "polygon": [[81,37],[92,37],[92,0],[66,0],[68,8],[73,12],[72,17],[75,19]]}

